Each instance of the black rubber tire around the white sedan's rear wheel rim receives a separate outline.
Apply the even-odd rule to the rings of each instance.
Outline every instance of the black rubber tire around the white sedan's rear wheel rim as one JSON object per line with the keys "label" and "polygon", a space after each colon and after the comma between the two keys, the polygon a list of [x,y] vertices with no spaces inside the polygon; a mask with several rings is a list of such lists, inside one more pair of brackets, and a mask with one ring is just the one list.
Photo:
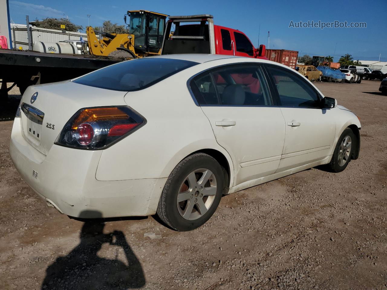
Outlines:
{"label": "black rubber tire around the white sedan's rear wheel rim", "polygon": [[[177,197],[180,193],[183,183],[187,179],[187,176],[195,170],[202,168],[209,169],[214,174],[217,187],[216,194],[214,195],[215,197],[212,201],[212,204],[209,206],[207,212],[205,212],[204,215],[200,214],[201,216],[199,218],[188,220],[183,218],[179,212]],[[173,169],[170,176],[168,177],[159,200],[157,215],[166,225],[174,230],[194,230],[207,222],[207,220],[209,220],[209,218],[211,218],[211,216],[214,214],[221,200],[224,186],[222,167],[214,158],[204,153],[190,155],[180,161],[180,163],[176,165],[175,169]],[[194,204],[197,209],[197,204]]]}

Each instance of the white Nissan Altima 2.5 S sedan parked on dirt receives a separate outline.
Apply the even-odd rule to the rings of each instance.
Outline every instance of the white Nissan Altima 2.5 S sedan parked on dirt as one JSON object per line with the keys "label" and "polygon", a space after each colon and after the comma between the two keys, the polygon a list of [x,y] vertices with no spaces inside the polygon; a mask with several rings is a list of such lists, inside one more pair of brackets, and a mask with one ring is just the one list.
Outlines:
{"label": "white Nissan Altima 2.5 S sedan parked on dirt", "polygon": [[279,63],[167,55],[29,87],[10,155],[61,213],[157,213],[192,230],[223,194],[322,164],[344,170],[359,130],[355,114]]}

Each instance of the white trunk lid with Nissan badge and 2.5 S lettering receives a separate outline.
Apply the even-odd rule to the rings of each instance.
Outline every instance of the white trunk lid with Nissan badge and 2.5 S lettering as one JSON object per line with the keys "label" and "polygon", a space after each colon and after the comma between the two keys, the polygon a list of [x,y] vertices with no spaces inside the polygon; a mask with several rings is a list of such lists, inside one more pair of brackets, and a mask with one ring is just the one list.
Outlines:
{"label": "white trunk lid with Nissan badge and 2.5 S lettering", "polygon": [[63,126],[79,109],[126,105],[125,94],[70,81],[30,86],[21,100],[22,135],[47,155]]}

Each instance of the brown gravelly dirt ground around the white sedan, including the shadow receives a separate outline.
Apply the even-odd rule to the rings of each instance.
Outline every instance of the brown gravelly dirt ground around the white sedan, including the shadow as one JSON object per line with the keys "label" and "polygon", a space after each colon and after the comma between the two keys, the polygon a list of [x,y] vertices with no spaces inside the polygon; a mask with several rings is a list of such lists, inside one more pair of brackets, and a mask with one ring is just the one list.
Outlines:
{"label": "brown gravelly dirt ground around the white sedan, including the shadow", "polygon": [[224,196],[192,232],[156,217],[85,222],[48,207],[10,160],[13,89],[0,106],[0,288],[387,289],[379,84],[316,83],[361,119],[360,158],[344,172],[310,169]]}

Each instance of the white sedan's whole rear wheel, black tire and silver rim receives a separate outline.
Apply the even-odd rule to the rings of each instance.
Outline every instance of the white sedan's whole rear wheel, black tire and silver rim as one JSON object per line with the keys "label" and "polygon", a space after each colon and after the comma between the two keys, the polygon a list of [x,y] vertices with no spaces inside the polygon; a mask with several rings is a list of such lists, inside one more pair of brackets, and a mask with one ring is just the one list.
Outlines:
{"label": "white sedan's whole rear wheel, black tire and silver rim", "polygon": [[165,183],[157,214],[172,229],[193,230],[214,214],[224,189],[222,167],[196,153],[176,165]]}

